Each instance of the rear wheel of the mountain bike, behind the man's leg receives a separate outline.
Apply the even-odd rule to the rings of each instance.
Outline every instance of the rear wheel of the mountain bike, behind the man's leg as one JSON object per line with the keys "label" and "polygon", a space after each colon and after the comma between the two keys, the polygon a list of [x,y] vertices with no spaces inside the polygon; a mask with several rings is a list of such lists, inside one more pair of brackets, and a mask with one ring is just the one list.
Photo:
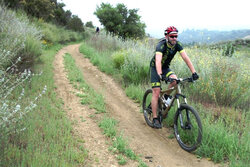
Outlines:
{"label": "rear wheel of the mountain bike, behind the man's leg", "polygon": [[[154,127],[153,112],[151,108],[152,94],[153,94],[152,89],[146,90],[143,96],[142,109],[143,109],[143,115],[144,115],[146,123],[148,124],[148,126],[153,128]],[[157,115],[159,114],[159,110],[160,110],[159,104],[160,104],[160,100],[158,101]]]}

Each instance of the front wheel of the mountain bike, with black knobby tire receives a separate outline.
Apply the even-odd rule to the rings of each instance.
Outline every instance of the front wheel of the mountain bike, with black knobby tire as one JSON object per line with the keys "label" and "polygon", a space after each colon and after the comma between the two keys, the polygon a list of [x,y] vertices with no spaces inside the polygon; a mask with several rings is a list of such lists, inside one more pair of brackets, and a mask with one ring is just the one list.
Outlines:
{"label": "front wheel of the mountain bike, with black knobby tire", "polygon": [[191,152],[198,148],[202,140],[202,124],[197,111],[181,104],[174,119],[175,137],[181,148]]}

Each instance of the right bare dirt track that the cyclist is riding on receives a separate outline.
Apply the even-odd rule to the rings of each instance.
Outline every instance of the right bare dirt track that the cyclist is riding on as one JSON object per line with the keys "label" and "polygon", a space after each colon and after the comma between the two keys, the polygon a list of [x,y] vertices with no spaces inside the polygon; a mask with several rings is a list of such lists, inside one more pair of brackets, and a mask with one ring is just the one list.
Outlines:
{"label": "right bare dirt track that the cyclist is riding on", "polygon": [[[119,130],[127,137],[130,148],[137,155],[152,157],[145,159],[150,167],[216,167],[206,159],[197,159],[195,155],[182,150],[175,139],[168,139],[170,131],[167,128],[153,129],[147,126],[140,113],[139,104],[130,100],[119,84],[100,72],[90,61],[79,52],[80,44],[65,47],[68,53],[76,60],[78,68],[84,75],[84,80],[98,93],[105,97],[107,112],[119,121]],[[59,56],[55,58],[57,62]],[[61,73],[61,72],[57,72]],[[67,99],[66,99],[67,100]],[[84,138],[84,135],[83,135]],[[95,138],[95,136],[93,136]],[[89,141],[91,142],[91,141]],[[87,141],[86,141],[87,143]],[[101,145],[100,145],[101,146]],[[110,165],[111,166],[111,165]],[[131,164],[131,166],[133,166]]]}

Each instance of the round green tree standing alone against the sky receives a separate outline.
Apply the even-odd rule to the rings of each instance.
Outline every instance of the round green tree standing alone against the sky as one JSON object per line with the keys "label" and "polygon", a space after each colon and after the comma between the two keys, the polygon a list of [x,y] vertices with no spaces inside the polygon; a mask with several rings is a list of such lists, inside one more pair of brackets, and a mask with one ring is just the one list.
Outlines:
{"label": "round green tree standing alone against the sky", "polygon": [[140,21],[138,9],[128,10],[124,4],[113,7],[109,3],[97,6],[94,14],[105,29],[114,35],[125,38],[142,38],[146,25]]}

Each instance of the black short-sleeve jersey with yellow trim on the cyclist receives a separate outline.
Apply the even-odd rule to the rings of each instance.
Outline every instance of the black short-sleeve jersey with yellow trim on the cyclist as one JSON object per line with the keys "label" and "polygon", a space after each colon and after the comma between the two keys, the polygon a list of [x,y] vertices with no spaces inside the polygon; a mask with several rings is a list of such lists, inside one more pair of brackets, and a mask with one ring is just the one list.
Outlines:
{"label": "black short-sleeve jersey with yellow trim on the cyclist", "polygon": [[[159,41],[159,43],[156,46],[155,55],[156,53],[162,54],[162,61],[161,61],[162,69],[166,69],[169,68],[170,62],[174,58],[175,54],[177,52],[181,53],[183,51],[184,49],[179,41],[177,41],[177,43],[174,46],[170,46],[170,44],[168,44],[166,39],[163,38]],[[151,60],[150,63],[151,67],[155,66],[155,55]]]}

